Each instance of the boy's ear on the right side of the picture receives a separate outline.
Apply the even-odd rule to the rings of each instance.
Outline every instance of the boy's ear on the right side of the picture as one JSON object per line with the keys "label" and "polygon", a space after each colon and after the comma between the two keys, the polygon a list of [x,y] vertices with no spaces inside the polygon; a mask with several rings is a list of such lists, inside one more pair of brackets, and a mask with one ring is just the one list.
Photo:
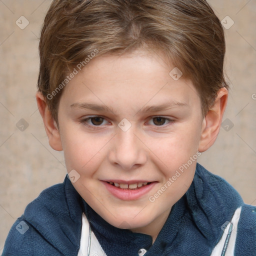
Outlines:
{"label": "boy's ear on the right side of the picture", "polygon": [[228,91],[225,87],[217,92],[217,97],[202,121],[199,152],[206,151],[216,140],[226,108]]}

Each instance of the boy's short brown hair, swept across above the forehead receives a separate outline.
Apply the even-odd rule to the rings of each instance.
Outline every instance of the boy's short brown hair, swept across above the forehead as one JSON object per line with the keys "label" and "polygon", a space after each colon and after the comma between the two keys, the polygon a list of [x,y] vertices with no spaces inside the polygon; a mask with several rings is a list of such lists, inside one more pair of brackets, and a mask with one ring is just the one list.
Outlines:
{"label": "boy's short brown hair, swept across above the forehead", "polygon": [[53,118],[67,71],[92,52],[142,45],[164,52],[192,80],[204,115],[218,89],[228,87],[223,28],[206,0],[53,0],[41,30],[37,82]]}

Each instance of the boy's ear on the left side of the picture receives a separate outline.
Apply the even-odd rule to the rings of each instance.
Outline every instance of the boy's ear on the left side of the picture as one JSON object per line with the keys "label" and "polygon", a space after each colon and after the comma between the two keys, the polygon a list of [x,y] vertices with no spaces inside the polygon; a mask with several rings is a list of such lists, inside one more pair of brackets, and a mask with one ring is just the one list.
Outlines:
{"label": "boy's ear on the left side of the picture", "polygon": [[42,116],[42,120],[44,123],[44,128],[46,131],[46,134],[49,139],[49,145],[57,150],[62,150],[62,144],[60,140],[60,134],[59,129],[57,128],[57,124],[55,120],[53,119],[51,112],[48,109],[48,106],[46,104],[46,100],[44,96],[41,94],[41,92],[37,91],[35,94],[38,110]]}

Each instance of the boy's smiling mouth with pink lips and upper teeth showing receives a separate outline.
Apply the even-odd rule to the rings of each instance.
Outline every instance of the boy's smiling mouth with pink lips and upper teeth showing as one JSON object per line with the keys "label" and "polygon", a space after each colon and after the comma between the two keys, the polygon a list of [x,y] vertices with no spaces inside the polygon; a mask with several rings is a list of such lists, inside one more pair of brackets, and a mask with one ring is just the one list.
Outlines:
{"label": "boy's smiling mouth with pink lips and upper teeth showing", "polygon": [[146,180],[101,180],[108,192],[121,200],[136,200],[146,195],[157,181]]}

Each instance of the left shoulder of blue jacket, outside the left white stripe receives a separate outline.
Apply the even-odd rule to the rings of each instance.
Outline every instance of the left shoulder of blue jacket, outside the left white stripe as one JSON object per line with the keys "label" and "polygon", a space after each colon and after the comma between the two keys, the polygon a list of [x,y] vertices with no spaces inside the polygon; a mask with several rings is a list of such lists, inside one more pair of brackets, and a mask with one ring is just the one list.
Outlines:
{"label": "left shoulder of blue jacket, outside the left white stripe", "polygon": [[67,177],[43,190],[12,225],[2,256],[77,255],[82,214],[79,200]]}

